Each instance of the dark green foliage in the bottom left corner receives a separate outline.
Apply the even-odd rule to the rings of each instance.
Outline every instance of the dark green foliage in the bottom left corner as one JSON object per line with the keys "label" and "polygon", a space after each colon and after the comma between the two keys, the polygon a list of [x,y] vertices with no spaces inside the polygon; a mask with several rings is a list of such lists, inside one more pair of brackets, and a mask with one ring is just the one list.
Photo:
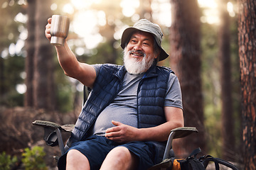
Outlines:
{"label": "dark green foliage in the bottom left corner", "polygon": [[16,162],[18,162],[17,157],[11,157],[9,154],[6,154],[6,152],[0,154],[0,169],[9,170],[16,164]]}

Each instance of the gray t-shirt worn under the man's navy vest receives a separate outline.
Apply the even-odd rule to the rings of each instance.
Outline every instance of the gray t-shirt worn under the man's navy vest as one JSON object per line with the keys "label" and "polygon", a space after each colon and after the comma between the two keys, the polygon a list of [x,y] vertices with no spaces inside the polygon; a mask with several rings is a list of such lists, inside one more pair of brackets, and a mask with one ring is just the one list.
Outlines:
{"label": "gray t-shirt worn under the man's navy vest", "polygon": [[[96,74],[102,64],[94,64]],[[112,120],[137,128],[137,89],[144,74],[134,75],[128,72],[122,80],[122,89],[98,116],[92,130],[93,135],[105,135],[113,127]],[[164,106],[182,109],[181,87],[175,74],[170,74]]]}

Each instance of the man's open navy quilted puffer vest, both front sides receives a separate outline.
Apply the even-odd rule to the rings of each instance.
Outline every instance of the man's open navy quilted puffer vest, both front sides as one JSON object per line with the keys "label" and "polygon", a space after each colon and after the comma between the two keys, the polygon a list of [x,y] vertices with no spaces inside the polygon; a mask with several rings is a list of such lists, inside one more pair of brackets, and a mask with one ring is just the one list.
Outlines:
{"label": "man's open navy quilted puffer vest, both front sides", "polygon": [[[122,87],[126,69],[115,64],[103,64],[95,84],[79,115],[69,144],[90,135],[89,130],[97,116],[117,96]],[[139,82],[137,91],[138,127],[150,128],[166,122],[164,98],[169,74],[174,73],[166,67],[151,67]]]}

